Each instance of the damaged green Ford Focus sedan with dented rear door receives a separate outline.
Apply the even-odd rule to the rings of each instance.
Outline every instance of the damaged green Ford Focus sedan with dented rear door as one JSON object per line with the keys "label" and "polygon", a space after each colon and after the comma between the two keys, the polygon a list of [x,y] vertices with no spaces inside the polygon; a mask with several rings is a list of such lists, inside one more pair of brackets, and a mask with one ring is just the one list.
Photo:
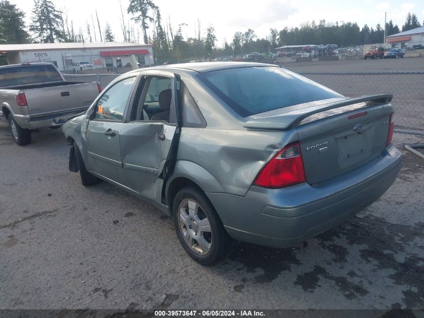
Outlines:
{"label": "damaged green Ford Focus sedan with dented rear door", "polygon": [[147,200],[210,265],[232,239],[295,246],[379,198],[401,165],[391,97],[271,64],[175,64],[119,76],[63,131],[83,185]]}

